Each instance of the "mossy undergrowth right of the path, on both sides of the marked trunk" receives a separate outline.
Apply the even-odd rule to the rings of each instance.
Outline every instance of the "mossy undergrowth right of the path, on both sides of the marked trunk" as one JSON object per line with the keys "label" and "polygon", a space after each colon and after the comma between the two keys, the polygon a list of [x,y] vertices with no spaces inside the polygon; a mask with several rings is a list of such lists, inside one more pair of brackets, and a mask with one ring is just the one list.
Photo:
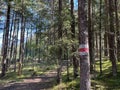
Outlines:
{"label": "mossy undergrowth right of the path, on both sides of the marked trunk", "polygon": [[[102,61],[103,73],[99,73],[99,61],[96,61],[95,73],[91,78],[91,90],[120,90],[120,62],[117,62],[118,75],[112,76],[111,62],[109,60]],[[63,73],[63,81],[61,84],[53,87],[53,90],[79,90],[80,77],[73,78],[72,68],[70,70],[70,80],[67,81],[66,72]],[[92,76],[91,75],[91,76]]]}

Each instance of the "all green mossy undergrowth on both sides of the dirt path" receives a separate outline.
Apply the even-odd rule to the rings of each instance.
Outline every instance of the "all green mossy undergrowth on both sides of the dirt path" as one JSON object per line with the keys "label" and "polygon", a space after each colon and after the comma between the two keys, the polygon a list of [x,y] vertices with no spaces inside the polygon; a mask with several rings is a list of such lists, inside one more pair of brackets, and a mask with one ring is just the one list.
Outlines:
{"label": "all green mossy undergrowth on both sides of the dirt path", "polygon": [[[41,65],[36,64],[27,64],[23,68],[21,76],[18,76],[17,73],[9,71],[5,77],[0,79],[0,85],[6,84],[9,82],[19,82],[24,78],[29,78],[32,76],[40,76],[45,74],[49,70],[54,70],[55,65]],[[118,75],[116,77],[112,76],[111,73],[111,62],[109,60],[102,61],[102,75],[100,75],[99,70],[99,61],[96,61],[95,72],[91,74],[91,90],[120,90],[120,62],[117,62]],[[56,80],[54,80],[54,87],[51,90],[79,90],[80,87],[80,77],[76,79],[73,78],[73,69],[69,68],[69,80],[67,78],[66,68],[62,72],[62,83],[57,85]]]}

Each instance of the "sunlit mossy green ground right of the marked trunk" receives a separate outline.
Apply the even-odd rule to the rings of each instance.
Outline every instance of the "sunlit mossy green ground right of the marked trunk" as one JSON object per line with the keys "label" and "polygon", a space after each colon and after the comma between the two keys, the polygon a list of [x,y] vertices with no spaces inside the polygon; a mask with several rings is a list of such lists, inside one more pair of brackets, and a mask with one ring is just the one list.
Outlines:
{"label": "sunlit mossy green ground right of the marked trunk", "polygon": [[[96,62],[96,70],[99,72],[99,62]],[[117,69],[118,69],[118,75],[114,77],[112,75],[112,65],[109,60],[104,60],[102,62],[102,70],[103,74],[99,75],[94,79],[94,82],[96,82],[93,86],[100,85],[100,88],[102,90],[120,90],[120,62],[117,62]]]}

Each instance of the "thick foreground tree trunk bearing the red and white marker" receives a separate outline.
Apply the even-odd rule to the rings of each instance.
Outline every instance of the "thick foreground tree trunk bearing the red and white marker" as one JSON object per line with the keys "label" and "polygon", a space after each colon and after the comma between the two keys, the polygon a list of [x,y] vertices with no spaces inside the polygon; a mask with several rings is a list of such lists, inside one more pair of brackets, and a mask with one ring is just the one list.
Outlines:
{"label": "thick foreground tree trunk bearing the red and white marker", "polygon": [[80,90],[90,90],[90,61],[87,26],[87,0],[78,0],[79,53],[80,53]]}

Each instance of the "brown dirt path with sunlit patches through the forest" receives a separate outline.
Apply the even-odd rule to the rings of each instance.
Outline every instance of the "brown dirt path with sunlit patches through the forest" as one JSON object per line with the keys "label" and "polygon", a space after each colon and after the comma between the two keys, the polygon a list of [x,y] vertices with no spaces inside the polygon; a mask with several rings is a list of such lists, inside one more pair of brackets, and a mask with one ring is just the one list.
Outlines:
{"label": "brown dirt path with sunlit patches through the forest", "polygon": [[9,82],[7,85],[0,86],[0,90],[51,90],[55,77],[56,72],[49,71],[39,77],[23,79],[22,82]]}

